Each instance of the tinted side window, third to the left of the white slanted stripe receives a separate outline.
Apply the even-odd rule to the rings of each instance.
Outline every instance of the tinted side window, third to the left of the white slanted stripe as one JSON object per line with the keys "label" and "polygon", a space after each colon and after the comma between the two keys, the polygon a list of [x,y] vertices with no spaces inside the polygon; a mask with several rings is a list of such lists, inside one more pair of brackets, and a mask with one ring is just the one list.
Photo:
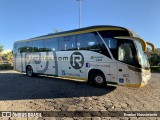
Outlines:
{"label": "tinted side window, third to the left of the white slanted stripe", "polygon": [[50,38],[44,40],[44,51],[57,51],[58,50],[58,38]]}

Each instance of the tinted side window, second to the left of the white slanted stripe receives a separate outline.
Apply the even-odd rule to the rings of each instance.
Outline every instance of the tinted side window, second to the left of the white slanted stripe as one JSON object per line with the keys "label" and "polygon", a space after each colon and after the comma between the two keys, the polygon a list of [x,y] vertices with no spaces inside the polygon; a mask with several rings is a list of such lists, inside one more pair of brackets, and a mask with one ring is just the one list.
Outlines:
{"label": "tinted side window, second to the left of the white slanted stripe", "polygon": [[59,50],[76,50],[76,36],[67,36],[59,38]]}

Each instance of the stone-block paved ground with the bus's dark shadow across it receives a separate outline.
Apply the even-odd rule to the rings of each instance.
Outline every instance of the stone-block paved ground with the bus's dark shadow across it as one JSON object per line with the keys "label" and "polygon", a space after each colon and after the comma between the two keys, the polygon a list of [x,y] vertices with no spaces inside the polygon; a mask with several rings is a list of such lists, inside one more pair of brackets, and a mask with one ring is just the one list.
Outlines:
{"label": "stone-block paved ground with the bus's dark shadow across it", "polygon": [[[59,117],[34,118],[39,120],[91,117],[95,120],[158,120],[157,117],[106,116],[117,115],[116,111],[160,111],[160,73],[153,73],[148,85],[135,89],[123,86],[96,88],[83,82],[0,71],[0,111],[87,111],[82,114],[85,118],[64,117],[56,112]],[[72,113],[68,114],[72,116]]]}

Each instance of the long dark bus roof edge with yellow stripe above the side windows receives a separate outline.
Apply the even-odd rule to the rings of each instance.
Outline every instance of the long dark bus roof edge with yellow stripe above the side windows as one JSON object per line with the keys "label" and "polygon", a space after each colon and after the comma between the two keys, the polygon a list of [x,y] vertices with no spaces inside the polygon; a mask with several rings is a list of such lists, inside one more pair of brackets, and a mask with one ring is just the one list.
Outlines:
{"label": "long dark bus roof edge with yellow stripe above the side windows", "polygon": [[50,33],[47,35],[38,36],[38,37],[30,38],[27,40],[16,41],[15,43],[27,42],[27,41],[32,41],[32,40],[41,40],[41,39],[45,39],[45,38],[54,38],[54,37],[59,37],[59,36],[68,36],[68,35],[74,35],[74,34],[88,33],[88,32],[95,32],[95,31],[103,31],[103,30],[129,31],[128,29],[126,29],[124,27],[120,27],[120,26],[98,25],[98,26],[90,26],[90,27],[84,27],[84,28],[79,28],[79,29],[74,29],[74,30],[68,30],[68,31],[64,31],[64,32]]}

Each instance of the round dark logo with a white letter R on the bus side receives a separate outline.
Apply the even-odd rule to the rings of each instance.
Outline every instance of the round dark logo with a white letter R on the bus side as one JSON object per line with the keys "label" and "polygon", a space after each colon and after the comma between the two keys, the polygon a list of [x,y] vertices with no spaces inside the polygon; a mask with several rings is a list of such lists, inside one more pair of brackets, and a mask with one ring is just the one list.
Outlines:
{"label": "round dark logo with a white letter R on the bus side", "polygon": [[74,52],[72,53],[71,57],[70,57],[70,63],[71,66],[74,69],[80,69],[83,67],[84,64],[84,57],[80,52]]}

